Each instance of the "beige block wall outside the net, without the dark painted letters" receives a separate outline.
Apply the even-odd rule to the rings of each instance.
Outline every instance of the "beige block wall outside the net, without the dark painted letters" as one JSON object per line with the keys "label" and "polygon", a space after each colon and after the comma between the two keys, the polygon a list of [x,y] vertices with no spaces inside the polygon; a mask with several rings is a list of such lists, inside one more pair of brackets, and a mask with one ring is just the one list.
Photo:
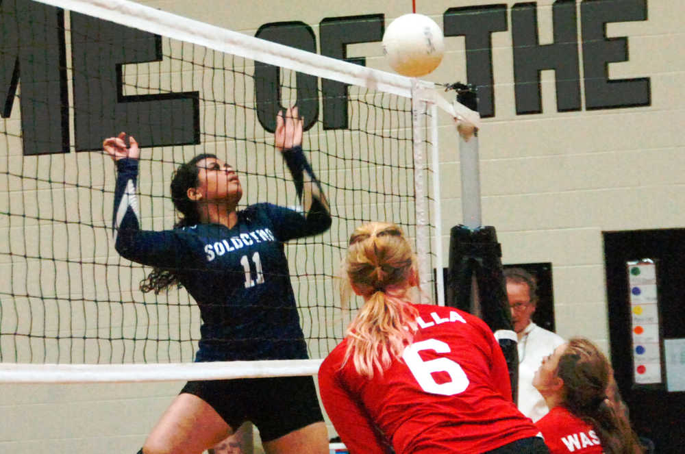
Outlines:
{"label": "beige block wall outside the net, without the dark painted letters", "polygon": [[[264,23],[304,21],[314,31],[332,16],[409,12],[410,2],[142,2],[245,34]],[[406,4],[405,4],[406,3]],[[450,7],[488,1],[423,1],[419,12],[442,25]],[[508,3],[513,5],[514,1]],[[538,2],[540,41],[551,40],[550,0]],[[516,116],[510,31],[493,34],[495,118],[479,138],[483,220],[497,228],[503,262],[551,262],[556,326],[562,336],[587,336],[608,351],[601,232],[685,226],[685,4],[649,0],[649,19],[608,25],[627,36],[630,60],[610,77],[649,77],[651,105],[556,112],[554,76],[543,72],[543,113]],[[464,42],[447,38],[447,55],[432,81],[464,80]],[[349,56],[388,69],[379,43],[354,45]],[[445,260],[449,228],[460,218],[458,151],[449,118],[440,117]],[[445,263],[446,265],[446,263]],[[182,383],[88,386],[0,385],[0,452],[39,450],[135,453]]]}

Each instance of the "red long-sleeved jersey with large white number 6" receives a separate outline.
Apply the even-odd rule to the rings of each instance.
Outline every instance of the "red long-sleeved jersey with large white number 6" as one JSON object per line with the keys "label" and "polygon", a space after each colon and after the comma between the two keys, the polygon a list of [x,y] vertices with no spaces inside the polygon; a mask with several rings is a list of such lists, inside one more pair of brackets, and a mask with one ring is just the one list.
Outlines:
{"label": "red long-sleeved jersey with large white number 6", "polygon": [[350,453],[469,453],[538,434],[511,400],[504,355],[490,328],[453,307],[416,305],[414,341],[373,379],[359,375],[347,340],[319,370],[326,412]]}

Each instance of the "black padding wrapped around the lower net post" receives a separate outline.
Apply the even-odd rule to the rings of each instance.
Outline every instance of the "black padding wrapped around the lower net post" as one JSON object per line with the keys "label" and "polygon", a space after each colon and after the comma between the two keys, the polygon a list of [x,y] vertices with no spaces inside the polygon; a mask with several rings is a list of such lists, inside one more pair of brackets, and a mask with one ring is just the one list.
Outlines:
{"label": "black padding wrapped around the lower net post", "polygon": [[[505,330],[513,333],[501,256],[495,227],[484,226],[477,229],[469,229],[464,225],[452,227],[449,237],[445,303],[473,313],[475,295],[471,294],[471,288],[475,275],[480,318],[493,332]],[[519,383],[519,353],[516,341],[500,339],[499,345],[507,362],[512,397],[516,402]]]}

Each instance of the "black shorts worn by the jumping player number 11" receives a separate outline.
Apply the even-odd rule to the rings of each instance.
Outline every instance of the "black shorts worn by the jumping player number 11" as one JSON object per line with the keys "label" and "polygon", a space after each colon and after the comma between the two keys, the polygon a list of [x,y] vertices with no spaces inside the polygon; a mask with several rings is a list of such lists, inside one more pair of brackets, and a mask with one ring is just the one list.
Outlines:
{"label": "black shorts worn by the jumping player number 11", "polygon": [[188,381],[181,392],[210,404],[234,430],[250,421],[264,442],[323,421],[311,376]]}

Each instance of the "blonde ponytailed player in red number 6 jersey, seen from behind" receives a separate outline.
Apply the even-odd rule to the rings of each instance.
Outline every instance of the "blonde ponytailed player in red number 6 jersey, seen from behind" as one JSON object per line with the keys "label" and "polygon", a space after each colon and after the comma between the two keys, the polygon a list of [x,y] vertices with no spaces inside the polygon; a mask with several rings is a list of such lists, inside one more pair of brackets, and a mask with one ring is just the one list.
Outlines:
{"label": "blonde ponytailed player in red number 6 jersey, seen from behind", "polygon": [[511,401],[488,326],[455,308],[412,302],[416,261],[397,225],[358,227],[345,275],[365,302],[321,365],[319,387],[350,453],[548,452]]}

